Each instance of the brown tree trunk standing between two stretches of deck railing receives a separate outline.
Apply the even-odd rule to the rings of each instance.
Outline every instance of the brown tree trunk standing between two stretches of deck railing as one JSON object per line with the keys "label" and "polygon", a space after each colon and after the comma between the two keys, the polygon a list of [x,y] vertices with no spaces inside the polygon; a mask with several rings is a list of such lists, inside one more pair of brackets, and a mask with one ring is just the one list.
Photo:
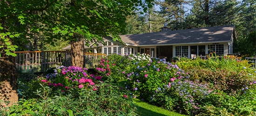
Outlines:
{"label": "brown tree trunk standing between two stretches of deck railing", "polygon": [[75,40],[71,41],[71,65],[85,67],[84,64],[84,42],[81,36],[75,34]]}

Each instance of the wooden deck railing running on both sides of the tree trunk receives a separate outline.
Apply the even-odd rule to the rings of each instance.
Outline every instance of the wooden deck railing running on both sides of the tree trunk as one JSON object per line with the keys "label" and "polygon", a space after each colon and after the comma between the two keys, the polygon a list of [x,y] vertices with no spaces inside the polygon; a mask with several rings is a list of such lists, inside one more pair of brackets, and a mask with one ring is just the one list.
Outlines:
{"label": "wooden deck railing running on both sides of the tree trunk", "polygon": [[[22,72],[43,72],[57,65],[71,65],[70,51],[22,51],[15,52],[16,69]],[[94,68],[106,54],[84,53],[85,68]]]}

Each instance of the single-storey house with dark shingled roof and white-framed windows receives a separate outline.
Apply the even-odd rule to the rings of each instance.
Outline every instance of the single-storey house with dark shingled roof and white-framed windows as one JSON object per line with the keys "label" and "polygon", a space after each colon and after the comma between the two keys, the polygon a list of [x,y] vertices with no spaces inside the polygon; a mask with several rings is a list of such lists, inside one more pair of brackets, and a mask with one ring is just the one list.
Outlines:
{"label": "single-storey house with dark shingled roof and white-framed windows", "polygon": [[[112,41],[111,37],[105,37],[105,45],[85,46],[86,52],[122,55],[146,53],[151,58],[191,58],[192,54],[206,56],[210,52],[225,56],[233,53],[233,39],[236,39],[236,32],[234,25],[175,31],[164,26],[161,32],[120,35],[120,37],[124,44]],[[70,50],[70,45],[63,50]]]}

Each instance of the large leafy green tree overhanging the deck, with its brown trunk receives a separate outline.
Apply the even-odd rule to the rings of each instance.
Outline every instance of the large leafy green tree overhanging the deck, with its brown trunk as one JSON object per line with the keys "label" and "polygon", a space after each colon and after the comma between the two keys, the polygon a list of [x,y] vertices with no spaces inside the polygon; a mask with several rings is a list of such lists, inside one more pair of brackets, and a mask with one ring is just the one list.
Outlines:
{"label": "large leafy green tree overhanging the deck, with its brown trunk", "polygon": [[[103,42],[104,36],[121,40],[118,34],[125,27],[125,16],[131,14],[136,9],[135,6],[145,9],[152,6],[151,1],[153,0],[0,0],[1,57],[14,64],[7,59],[8,55],[15,56],[13,51],[17,46],[13,46],[14,43],[26,45],[29,42],[27,38],[32,39],[35,34],[43,32],[47,42],[54,43],[54,39],[59,38],[70,41],[72,65],[82,67],[83,43],[89,45],[89,42]],[[15,70],[15,64],[11,69]],[[2,76],[5,74],[1,78]],[[7,78],[10,80],[4,81],[8,83],[16,79]],[[2,89],[0,90],[4,91]]]}

